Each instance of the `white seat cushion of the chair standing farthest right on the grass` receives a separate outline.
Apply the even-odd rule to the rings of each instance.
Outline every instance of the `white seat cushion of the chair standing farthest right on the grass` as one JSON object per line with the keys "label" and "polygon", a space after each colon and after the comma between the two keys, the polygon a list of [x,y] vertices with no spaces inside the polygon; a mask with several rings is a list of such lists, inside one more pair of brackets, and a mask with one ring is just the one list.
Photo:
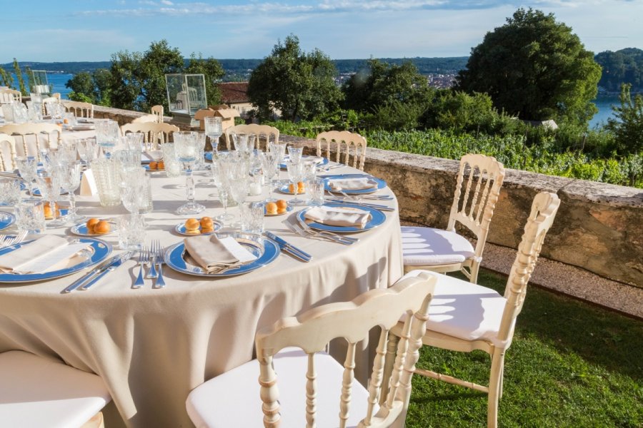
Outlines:
{"label": "white seat cushion of the chair standing farthest right on the grass", "polygon": [[[404,277],[414,277],[426,270],[413,270]],[[507,299],[491,288],[472,284],[436,272],[438,277],[427,330],[464,340],[489,340],[499,347],[507,347],[498,339],[502,312]]]}

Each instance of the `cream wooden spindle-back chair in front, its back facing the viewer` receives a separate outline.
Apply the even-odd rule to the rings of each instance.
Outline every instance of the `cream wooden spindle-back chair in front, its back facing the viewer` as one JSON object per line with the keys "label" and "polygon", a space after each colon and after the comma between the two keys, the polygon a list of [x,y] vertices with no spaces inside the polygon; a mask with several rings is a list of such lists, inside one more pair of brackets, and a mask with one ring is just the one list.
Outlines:
{"label": "cream wooden spindle-back chair in front, its back facing the viewer", "polygon": [[[428,274],[418,275],[388,289],[365,292],[352,302],[330,303],[299,317],[284,318],[261,330],[255,340],[256,360],[190,392],[186,400],[189,417],[197,427],[256,427],[262,416],[264,427],[354,427],[362,417],[359,427],[403,427],[434,287],[428,278]],[[383,387],[389,328],[407,312],[414,316],[407,318],[397,352],[390,350],[397,357],[389,387]],[[354,357],[357,343],[377,326],[382,330],[367,389],[354,380]],[[343,367],[321,352],[339,337],[347,342]],[[332,390],[338,394],[328,394]]]}

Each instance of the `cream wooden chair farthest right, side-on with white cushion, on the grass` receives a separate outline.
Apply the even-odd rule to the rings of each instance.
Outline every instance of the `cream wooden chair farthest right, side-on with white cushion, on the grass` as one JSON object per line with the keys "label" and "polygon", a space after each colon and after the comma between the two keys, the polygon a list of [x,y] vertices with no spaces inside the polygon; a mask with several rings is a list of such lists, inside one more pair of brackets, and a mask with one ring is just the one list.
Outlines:
{"label": "cream wooden chair farthest right, side-on with white cushion, on the grass", "polygon": [[[552,226],[560,200],[554,193],[541,192],[532,203],[524,226],[518,254],[509,273],[504,295],[487,287],[435,273],[437,284],[429,308],[424,345],[459,352],[482,350],[491,356],[489,386],[416,368],[417,374],[487,392],[487,427],[497,427],[498,399],[502,397],[504,353],[514,337],[516,317],[522,310],[527,282],[532,276],[547,230]],[[426,274],[414,270],[404,278]],[[394,327],[394,335],[404,337],[404,325]],[[389,356],[389,359],[392,357]]]}

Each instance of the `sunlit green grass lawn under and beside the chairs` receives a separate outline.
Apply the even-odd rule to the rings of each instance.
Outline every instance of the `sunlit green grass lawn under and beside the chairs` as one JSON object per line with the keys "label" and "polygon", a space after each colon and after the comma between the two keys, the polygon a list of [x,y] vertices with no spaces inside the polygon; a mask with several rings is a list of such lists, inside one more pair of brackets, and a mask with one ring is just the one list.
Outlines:
{"label": "sunlit green grass lawn under and beside the chairs", "polygon": [[[506,277],[479,284],[504,292]],[[485,352],[422,347],[418,367],[487,384]],[[485,427],[487,394],[413,377],[407,427]],[[530,287],[505,356],[500,427],[643,427],[643,321]]]}

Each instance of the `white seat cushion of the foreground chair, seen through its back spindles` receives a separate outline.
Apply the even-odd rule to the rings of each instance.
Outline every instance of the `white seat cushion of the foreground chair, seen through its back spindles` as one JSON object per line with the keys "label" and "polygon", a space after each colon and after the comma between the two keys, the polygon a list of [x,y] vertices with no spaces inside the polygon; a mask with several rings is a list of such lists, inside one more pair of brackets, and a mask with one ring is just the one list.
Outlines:
{"label": "white seat cushion of the foreground chair, seen through its back spindles", "polygon": [[[286,348],[274,356],[273,364],[281,404],[279,427],[304,427],[308,356],[299,348]],[[344,367],[330,355],[319,352],[315,355],[315,368],[317,427],[338,427]],[[186,400],[190,419],[198,428],[263,427],[258,379],[259,362],[252,360],[199,385]],[[367,399],[367,390],[354,380],[347,427],[357,427],[366,416]]]}

